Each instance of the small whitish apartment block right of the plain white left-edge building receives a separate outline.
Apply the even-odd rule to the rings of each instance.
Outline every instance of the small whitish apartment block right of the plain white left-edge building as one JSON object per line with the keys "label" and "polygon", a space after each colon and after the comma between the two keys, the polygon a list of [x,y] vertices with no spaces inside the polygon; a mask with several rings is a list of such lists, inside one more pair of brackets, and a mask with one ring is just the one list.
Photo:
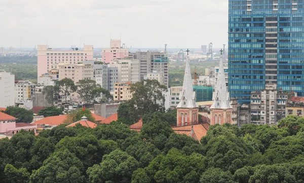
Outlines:
{"label": "small whitish apartment block right of the plain white left-edge building", "polygon": [[35,96],[36,85],[30,81],[15,82],[15,102],[27,101]]}

